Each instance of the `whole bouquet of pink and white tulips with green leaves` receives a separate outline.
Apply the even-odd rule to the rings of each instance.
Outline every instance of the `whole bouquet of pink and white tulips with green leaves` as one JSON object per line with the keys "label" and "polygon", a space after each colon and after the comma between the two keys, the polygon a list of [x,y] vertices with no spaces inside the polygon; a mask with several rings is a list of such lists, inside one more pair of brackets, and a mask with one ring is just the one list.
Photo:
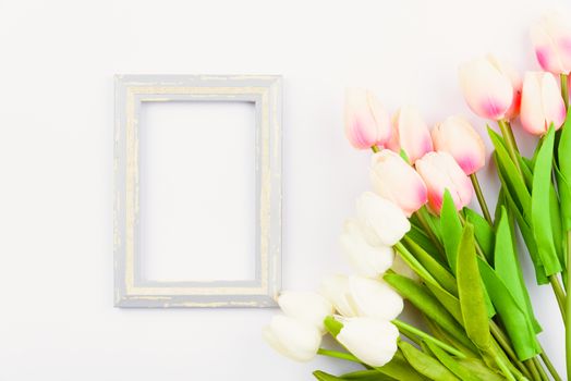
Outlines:
{"label": "whole bouquet of pink and white tulips with green leaves", "polygon": [[[529,255],[536,283],[549,284],[558,302],[570,379],[571,29],[549,14],[531,36],[543,72],[522,81],[490,56],[459,70],[466,103],[489,121],[501,183],[495,210],[476,176],[485,146],[465,119],[430,132],[414,108],[391,119],[370,91],[348,90],[347,137],[373,151],[373,192],[359,197],[340,236],[354,274],[326,276],[318,292],[283,292],[283,314],[264,329],[275,349],[363,367],[339,377],[315,371],[323,381],[562,380],[537,340],[520,265]],[[512,124],[538,137],[533,156],[518,149]],[[469,207],[473,194],[479,211]],[[423,327],[398,318],[403,299]],[[325,334],[333,348],[321,347]]]}

